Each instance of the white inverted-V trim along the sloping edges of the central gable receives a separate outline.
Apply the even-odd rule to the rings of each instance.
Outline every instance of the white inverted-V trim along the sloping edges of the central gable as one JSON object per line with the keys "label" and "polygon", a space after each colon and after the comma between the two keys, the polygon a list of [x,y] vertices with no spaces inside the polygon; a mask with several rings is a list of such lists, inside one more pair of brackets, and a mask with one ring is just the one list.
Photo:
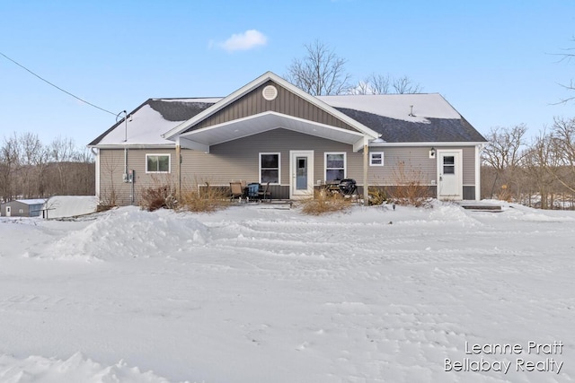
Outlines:
{"label": "white inverted-V trim along the sloping edges of the central gable", "polygon": [[172,129],[170,129],[169,131],[164,133],[164,135],[162,135],[162,137],[165,139],[168,139],[168,140],[173,140],[176,135],[181,135],[182,132],[184,130],[188,129],[190,126],[194,126],[194,125],[198,124],[200,121],[213,115],[218,110],[224,109],[227,105],[231,104],[235,100],[240,99],[241,97],[243,97],[248,92],[257,88],[262,83],[266,83],[268,81],[272,81],[274,83],[277,83],[278,85],[282,86],[283,88],[287,89],[288,91],[295,93],[297,96],[310,102],[311,104],[313,104],[317,108],[322,109],[323,111],[331,114],[333,117],[338,118],[341,121],[348,124],[349,126],[352,126],[353,128],[357,129],[359,131],[359,133],[362,133],[363,135],[367,135],[368,136],[367,138],[375,139],[376,137],[380,136],[376,131],[368,128],[367,126],[365,126],[361,123],[359,123],[358,121],[356,121],[353,118],[349,118],[345,114],[341,113],[341,111],[339,111],[335,108],[332,108],[331,106],[329,106],[328,104],[326,104],[322,100],[319,100],[319,99],[315,98],[314,96],[312,96],[311,94],[309,94],[305,91],[302,91],[301,89],[297,88],[295,85],[288,83],[286,80],[279,77],[279,75],[273,74],[271,72],[266,72],[265,74],[262,74],[260,77],[253,80],[251,83],[244,85],[242,88],[238,89],[237,91],[234,91],[233,93],[228,95],[226,98],[218,101],[217,103],[215,103],[214,105],[212,105],[208,109],[203,110],[202,112],[200,112],[198,115],[194,116],[193,118],[190,118],[189,120],[182,122],[179,126],[173,127]]}

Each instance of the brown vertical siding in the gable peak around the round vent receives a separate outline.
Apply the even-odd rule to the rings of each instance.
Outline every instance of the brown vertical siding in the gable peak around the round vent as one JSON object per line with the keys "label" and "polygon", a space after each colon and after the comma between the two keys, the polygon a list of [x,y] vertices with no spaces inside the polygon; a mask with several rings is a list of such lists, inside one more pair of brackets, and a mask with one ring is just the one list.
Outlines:
{"label": "brown vertical siding in the gable peak around the round vent", "polygon": [[[265,100],[261,95],[261,91],[267,85],[274,85],[278,89],[278,97],[275,100]],[[246,118],[267,111],[275,111],[288,116],[304,118],[329,126],[355,130],[341,121],[341,119],[333,117],[332,114],[323,109],[317,108],[314,104],[271,81],[261,84],[261,86],[250,91],[241,99],[235,100],[230,105],[227,105],[226,108],[221,109],[212,116],[200,121],[198,125],[192,126],[189,130],[223,124],[234,119]]]}

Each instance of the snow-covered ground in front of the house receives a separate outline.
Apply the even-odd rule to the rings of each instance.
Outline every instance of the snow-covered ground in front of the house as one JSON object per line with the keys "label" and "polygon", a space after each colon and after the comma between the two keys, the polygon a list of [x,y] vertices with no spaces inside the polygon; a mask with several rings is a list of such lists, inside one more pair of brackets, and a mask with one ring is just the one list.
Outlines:
{"label": "snow-covered ground in front of the house", "polygon": [[0,381],[571,382],[574,257],[518,205],[3,217]]}

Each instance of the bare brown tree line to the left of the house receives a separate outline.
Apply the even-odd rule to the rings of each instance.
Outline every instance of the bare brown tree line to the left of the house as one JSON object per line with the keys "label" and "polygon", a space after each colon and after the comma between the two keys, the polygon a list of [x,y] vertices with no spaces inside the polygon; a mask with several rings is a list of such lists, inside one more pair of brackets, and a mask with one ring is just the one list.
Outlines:
{"label": "bare brown tree line to the left of the house", "polygon": [[57,137],[42,144],[38,135],[4,136],[0,146],[0,199],[93,196],[95,166],[87,149]]}

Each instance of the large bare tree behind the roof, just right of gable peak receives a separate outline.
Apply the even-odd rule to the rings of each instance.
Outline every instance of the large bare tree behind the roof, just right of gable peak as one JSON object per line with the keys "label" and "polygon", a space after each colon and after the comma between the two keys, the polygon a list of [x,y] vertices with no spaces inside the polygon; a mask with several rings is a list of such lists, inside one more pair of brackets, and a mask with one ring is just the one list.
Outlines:
{"label": "large bare tree behind the roof, just right of gable peak", "polygon": [[286,79],[313,96],[345,93],[351,76],[345,72],[347,60],[335,54],[323,42],[315,40],[305,45],[307,54],[294,59]]}

